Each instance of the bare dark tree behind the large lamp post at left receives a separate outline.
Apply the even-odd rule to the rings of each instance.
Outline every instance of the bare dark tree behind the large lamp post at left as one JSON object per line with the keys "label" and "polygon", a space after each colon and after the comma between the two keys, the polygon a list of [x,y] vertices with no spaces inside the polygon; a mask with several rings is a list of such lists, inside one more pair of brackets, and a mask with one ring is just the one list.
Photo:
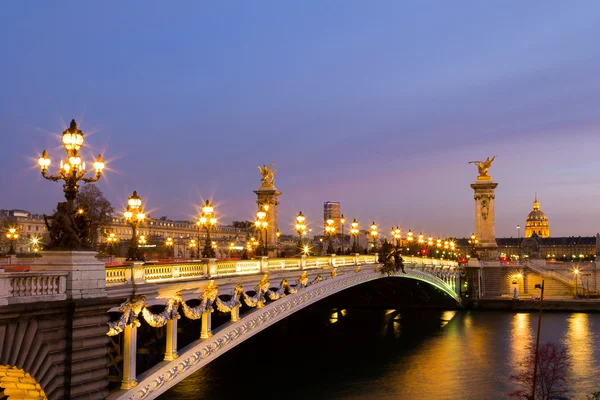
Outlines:
{"label": "bare dark tree behind the large lamp post at left", "polygon": [[83,209],[90,219],[90,241],[98,242],[98,235],[109,225],[114,208],[93,183],[86,183],[75,200],[76,209]]}

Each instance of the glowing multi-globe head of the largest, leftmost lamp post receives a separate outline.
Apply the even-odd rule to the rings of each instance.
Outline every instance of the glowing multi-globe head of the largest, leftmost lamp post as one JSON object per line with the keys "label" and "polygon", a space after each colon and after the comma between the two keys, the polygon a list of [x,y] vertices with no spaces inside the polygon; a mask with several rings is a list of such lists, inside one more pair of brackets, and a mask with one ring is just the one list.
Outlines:
{"label": "glowing multi-globe head of the largest, leftmost lamp post", "polygon": [[63,191],[65,192],[65,198],[69,207],[69,212],[73,210],[73,201],[77,197],[79,191],[79,182],[85,183],[96,182],[102,176],[104,170],[104,161],[102,155],[98,155],[93,166],[96,172],[92,178],[86,178],[87,170],[85,168],[85,162],[82,161],[79,150],[83,147],[84,139],[83,132],[77,128],[75,120],[71,121],[71,125],[62,134],[62,144],[67,153],[65,161],[60,162],[60,169],[57,175],[48,175],[48,167],[50,167],[50,158],[48,158],[48,152],[44,150],[42,156],[38,160],[38,165],[42,172],[42,176],[50,181],[58,182],[63,180]]}

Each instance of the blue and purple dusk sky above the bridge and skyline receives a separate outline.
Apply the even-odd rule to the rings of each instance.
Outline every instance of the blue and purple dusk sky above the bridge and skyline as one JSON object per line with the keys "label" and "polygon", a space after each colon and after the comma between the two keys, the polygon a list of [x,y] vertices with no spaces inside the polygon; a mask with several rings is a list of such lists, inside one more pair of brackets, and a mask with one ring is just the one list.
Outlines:
{"label": "blue and purple dusk sky above the bridge and skyline", "polygon": [[[49,213],[72,118],[117,208],[253,219],[275,161],[280,228],[323,202],[434,236],[474,231],[467,164],[497,155],[496,235],[535,192],[551,235],[600,231],[600,2],[4,2],[0,208]],[[316,232],[314,232],[316,233]],[[521,229],[521,235],[524,229]]]}

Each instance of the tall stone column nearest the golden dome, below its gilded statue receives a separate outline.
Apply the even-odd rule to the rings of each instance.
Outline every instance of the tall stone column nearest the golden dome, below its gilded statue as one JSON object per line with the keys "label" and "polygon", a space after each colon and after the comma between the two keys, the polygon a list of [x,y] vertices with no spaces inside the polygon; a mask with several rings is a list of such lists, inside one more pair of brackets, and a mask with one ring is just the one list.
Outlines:
{"label": "tall stone column nearest the golden dome, below its gilded statue", "polygon": [[494,191],[497,186],[497,183],[492,182],[491,176],[479,176],[471,184],[475,192],[475,236],[479,240],[476,250],[483,260],[494,260],[498,255],[494,213]]}

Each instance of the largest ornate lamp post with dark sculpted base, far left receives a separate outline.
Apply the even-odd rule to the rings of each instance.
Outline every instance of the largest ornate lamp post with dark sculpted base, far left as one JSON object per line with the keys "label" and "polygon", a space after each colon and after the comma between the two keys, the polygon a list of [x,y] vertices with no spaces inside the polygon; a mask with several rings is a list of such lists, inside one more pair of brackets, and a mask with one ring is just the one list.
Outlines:
{"label": "largest ornate lamp post with dark sculpted base, far left", "polygon": [[63,180],[63,191],[65,193],[66,203],[58,203],[57,212],[50,218],[44,217],[46,224],[48,219],[52,219],[52,226],[49,228],[50,231],[50,248],[89,248],[89,232],[86,229],[80,231],[73,221],[73,215],[75,214],[73,209],[73,202],[79,192],[79,182],[85,183],[96,182],[102,176],[104,170],[104,161],[102,155],[98,155],[93,167],[95,175],[93,177],[86,178],[88,170],[85,168],[85,162],[79,155],[79,150],[83,147],[84,138],[83,132],[77,128],[75,120],[71,121],[71,125],[62,134],[62,144],[67,153],[66,160],[60,161],[60,168],[57,175],[48,174],[48,168],[50,167],[50,158],[48,152],[44,150],[42,156],[38,160],[40,171],[45,179],[50,181],[58,182]]}

